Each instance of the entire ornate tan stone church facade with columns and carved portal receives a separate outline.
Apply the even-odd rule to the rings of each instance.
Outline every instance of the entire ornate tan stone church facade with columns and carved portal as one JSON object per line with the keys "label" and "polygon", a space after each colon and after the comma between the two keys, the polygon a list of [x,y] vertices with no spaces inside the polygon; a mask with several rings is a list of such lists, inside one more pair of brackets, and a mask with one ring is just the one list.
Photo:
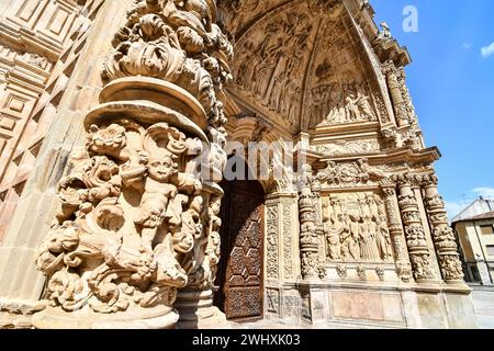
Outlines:
{"label": "entire ornate tan stone church facade with columns and carved portal", "polygon": [[[368,1],[10,2],[0,128],[27,132],[0,131],[1,325],[206,327],[235,317],[216,290],[293,324],[474,327],[411,58]],[[26,44],[29,25],[49,45]],[[266,201],[235,226],[220,211],[240,157],[227,141],[270,148],[248,163],[268,165]],[[33,256],[44,275],[15,265]]]}

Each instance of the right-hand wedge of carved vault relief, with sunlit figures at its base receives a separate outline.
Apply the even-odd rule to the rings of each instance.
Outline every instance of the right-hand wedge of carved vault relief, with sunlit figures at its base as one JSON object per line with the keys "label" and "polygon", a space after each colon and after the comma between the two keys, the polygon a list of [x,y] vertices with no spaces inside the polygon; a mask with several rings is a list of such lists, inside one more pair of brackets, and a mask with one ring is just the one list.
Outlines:
{"label": "right-hand wedge of carved vault relief, with sunlit figures at its base", "polygon": [[307,71],[304,112],[310,114],[308,127],[378,122],[369,79],[345,16],[324,21],[321,27]]}

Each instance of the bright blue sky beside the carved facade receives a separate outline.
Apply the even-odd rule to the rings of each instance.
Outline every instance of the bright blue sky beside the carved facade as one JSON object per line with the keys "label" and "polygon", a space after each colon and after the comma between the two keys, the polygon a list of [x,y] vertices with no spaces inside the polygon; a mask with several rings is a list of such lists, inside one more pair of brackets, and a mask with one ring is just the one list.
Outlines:
{"label": "bright blue sky beside the carved facade", "polygon": [[[450,216],[479,195],[494,200],[494,1],[371,4],[412,55],[408,87],[427,145],[442,152],[436,169]],[[407,5],[418,10],[416,33],[403,30]]]}

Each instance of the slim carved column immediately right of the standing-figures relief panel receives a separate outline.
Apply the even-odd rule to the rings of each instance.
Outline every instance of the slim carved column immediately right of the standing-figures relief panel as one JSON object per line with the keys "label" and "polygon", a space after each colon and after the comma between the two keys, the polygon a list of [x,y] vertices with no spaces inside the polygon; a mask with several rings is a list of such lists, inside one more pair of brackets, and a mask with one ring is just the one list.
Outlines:
{"label": "slim carved column immediately right of the standing-figures relief panel", "polygon": [[390,236],[393,244],[396,272],[400,279],[407,283],[412,279],[412,267],[406,252],[405,235],[403,233],[403,224],[396,196],[396,184],[384,183],[381,188],[384,194],[388,218],[390,220]]}

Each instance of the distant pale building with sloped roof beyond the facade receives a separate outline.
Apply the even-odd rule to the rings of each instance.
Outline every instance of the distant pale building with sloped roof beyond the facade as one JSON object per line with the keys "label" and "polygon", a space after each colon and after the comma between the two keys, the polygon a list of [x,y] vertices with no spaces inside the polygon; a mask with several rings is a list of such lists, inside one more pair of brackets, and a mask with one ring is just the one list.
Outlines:
{"label": "distant pale building with sloped roof beyond the facade", "polygon": [[494,201],[479,197],[452,219],[465,280],[494,285]]}

